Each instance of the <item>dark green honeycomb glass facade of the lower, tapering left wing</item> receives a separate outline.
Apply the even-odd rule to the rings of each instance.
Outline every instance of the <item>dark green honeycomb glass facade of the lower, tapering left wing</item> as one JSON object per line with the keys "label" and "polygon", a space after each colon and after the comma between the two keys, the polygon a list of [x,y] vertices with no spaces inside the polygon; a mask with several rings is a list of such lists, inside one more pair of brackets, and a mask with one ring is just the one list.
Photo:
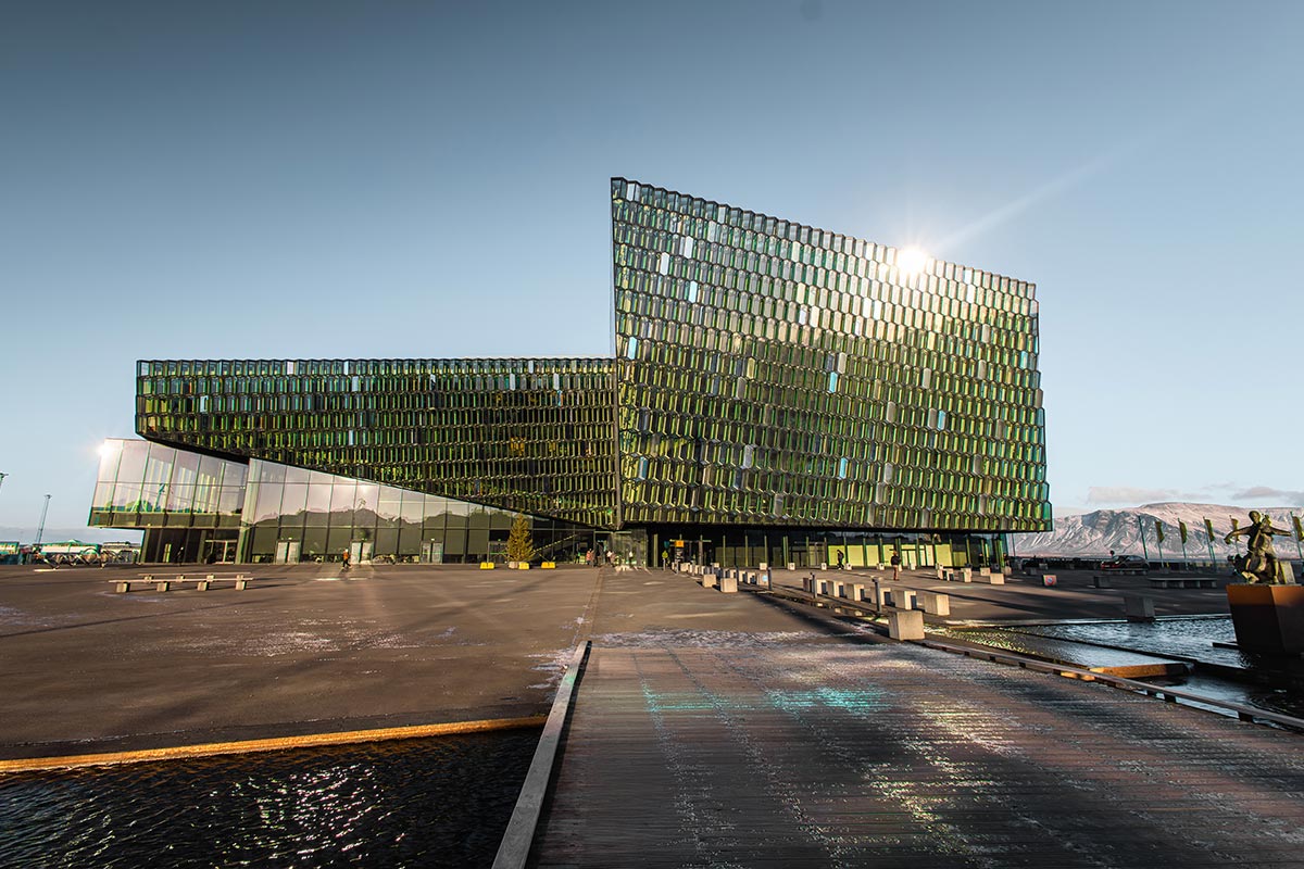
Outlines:
{"label": "dark green honeycomb glass facade of the lower, tapering left wing", "polygon": [[613,528],[612,360],[143,361],[137,433]]}

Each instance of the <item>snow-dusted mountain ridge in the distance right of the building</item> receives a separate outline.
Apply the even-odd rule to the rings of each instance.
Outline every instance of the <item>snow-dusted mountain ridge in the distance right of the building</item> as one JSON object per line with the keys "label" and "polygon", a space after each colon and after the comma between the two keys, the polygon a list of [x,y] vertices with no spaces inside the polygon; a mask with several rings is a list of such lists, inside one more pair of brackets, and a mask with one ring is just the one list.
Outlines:
{"label": "snow-dusted mountain ridge in the distance right of the building", "polygon": [[[1128,509],[1097,509],[1090,513],[1063,516],[1055,520],[1055,530],[1042,534],[1018,534],[1015,538],[1015,551],[1018,555],[1072,555],[1081,558],[1108,555],[1114,550],[1119,555],[1145,555],[1158,558],[1154,522],[1163,526],[1164,558],[1181,558],[1181,537],[1178,522],[1187,522],[1187,555],[1209,558],[1209,534],[1205,532],[1205,519],[1214,526],[1214,556],[1224,559],[1235,547],[1223,543],[1223,535],[1231,532],[1231,520],[1236,519],[1241,528],[1249,524],[1249,511],[1257,509],[1273,517],[1273,525],[1294,532],[1291,511],[1300,515],[1300,508],[1291,507],[1230,507],[1227,504],[1188,504],[1164,502],[1142,504]],[[1140,522],[1137,521],[1140,520]],[[1141,534],[1145,533],[1145,547]],[[1240,538],[1240,551],[1245,551],[1245,538]],[[1294,533],[1291,537],[1278,537],[1277,551],[1283,558],[1297,558]]]}

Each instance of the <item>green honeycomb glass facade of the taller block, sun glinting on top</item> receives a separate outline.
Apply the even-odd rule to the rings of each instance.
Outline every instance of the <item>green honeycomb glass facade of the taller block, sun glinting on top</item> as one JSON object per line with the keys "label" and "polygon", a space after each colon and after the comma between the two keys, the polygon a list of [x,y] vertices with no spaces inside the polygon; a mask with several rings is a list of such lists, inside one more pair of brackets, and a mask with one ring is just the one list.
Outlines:
{"label": "green honeycomb glass facade of the taller block, sun glinting on top", "polygon": [[1050,528],[1031,284],[612,180],[632,524]]}

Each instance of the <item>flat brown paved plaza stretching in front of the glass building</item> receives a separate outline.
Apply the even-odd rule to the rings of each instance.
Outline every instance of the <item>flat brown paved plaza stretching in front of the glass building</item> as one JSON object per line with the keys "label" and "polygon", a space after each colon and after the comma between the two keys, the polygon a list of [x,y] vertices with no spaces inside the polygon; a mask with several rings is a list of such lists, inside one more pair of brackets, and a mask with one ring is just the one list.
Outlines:
{"label": "flat brown paved plaza stretching in front of the glass building", "polygon": [[[113,593],[213,568],[0,567],[0,760],[325,734],[548,711],[576,642],[876,642],[863,627],[666,571],[240,565],[236,591]],[[801,584],[802,573],[776,580]],[[876,573],[876,572],[865,572]],[[919,572],[908,582],[947,585]],[[951,584],[955,620],[1108,618],[1123,588]],[[1144,585],[1144,580],[1140,581]],[[1118,585],[1123,585],[1119,582]],[[1155,591],[1161,614],[1222,590]]]}

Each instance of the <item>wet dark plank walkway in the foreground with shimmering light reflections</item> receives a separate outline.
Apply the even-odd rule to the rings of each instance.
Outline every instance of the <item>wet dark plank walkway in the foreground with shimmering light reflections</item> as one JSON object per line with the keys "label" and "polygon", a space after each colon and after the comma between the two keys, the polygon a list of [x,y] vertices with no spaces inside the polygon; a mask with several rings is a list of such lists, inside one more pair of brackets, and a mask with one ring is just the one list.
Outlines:
{"label": "wet dark plank walkway in the foreground with shimmering light reflections", "polygon": [[1304,736],[911,645],[600,648],[539,866],[1304,866]]}

